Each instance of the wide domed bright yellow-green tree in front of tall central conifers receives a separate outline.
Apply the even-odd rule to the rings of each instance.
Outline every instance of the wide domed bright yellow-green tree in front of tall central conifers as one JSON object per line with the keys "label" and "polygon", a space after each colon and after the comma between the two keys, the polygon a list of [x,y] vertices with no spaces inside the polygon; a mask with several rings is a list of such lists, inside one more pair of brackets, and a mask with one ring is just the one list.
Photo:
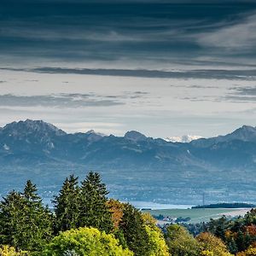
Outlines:
{"label": "wide domed bright yellow-green tree in front of tall central conifers", "polygon": [[79,228],[67,230],[56,236],[40,256],[130,256],[133,255],[128,249],[119,246],[114,236],[107,235],[104,231],[95,228]]}

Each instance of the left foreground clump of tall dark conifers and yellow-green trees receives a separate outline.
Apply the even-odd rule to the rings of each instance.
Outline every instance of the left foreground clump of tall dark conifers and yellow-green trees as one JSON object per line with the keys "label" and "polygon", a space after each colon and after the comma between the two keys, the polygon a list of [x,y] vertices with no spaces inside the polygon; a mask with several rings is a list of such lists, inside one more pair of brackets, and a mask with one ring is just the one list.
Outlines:
{"label": "left foreground clump of tall dark conifers and yellow-green trees", "polygon": [[0,202],[0,255],[169,255],[154,218],[107,195],[98,173],[72,175],[49,211],[27,181]]}

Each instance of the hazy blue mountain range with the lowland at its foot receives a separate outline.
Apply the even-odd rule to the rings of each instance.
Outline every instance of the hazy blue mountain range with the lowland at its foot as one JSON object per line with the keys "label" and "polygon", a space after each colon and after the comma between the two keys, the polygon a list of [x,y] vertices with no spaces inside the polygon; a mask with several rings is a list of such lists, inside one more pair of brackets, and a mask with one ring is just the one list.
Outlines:
{"label": "hazy blue mountain range with the lowland at its foot", "polygon": [[67,133],[42,120],[0,128],[0,193],[20,189],[26,179],[45,199],[65,177],[102,174],[110,195],[123,201],[200,204],[256,202],[256,128],[225,136],[172,143],[128,131],[124,137],[95,131]]}

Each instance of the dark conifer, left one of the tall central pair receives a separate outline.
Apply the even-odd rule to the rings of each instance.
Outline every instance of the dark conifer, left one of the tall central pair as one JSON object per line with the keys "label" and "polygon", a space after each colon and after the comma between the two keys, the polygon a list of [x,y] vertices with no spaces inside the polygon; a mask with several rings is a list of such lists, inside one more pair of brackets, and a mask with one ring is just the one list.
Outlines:
{"label": "dark conifer, left one of the tall central pair", "polygon": [[59,195],[53,201],[55,207],[55,231],[79,227],[79,185],[78,177],[71,175],[63,183]]}

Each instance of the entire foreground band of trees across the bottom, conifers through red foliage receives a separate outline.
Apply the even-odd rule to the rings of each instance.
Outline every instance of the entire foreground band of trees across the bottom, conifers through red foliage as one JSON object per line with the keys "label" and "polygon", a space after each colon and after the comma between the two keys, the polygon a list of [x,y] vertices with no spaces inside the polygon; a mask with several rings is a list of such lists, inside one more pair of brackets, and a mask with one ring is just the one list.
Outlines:
{"label": "entire foreground band of trees across the bottom, conifers through red foliage", "polygon": [[44,207],[30,180],[23,191],[4,197],[0,202],[0,255],[256,255],[252,254],[256,211],[236,221],[212,220],[203,229],[196,228],[201,230],[197,236],[179,224],[162,232],[150,214],[108,199],[106,185],[96,172],[81,183],[78,177],[67,177],[53,205],[53,211]]}

